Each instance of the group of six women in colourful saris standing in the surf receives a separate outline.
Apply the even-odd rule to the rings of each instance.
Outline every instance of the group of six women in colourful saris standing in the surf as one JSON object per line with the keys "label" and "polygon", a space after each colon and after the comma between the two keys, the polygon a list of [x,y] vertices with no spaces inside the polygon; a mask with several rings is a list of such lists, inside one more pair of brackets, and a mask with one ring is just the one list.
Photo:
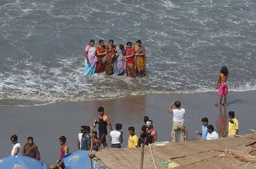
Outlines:
{"label": "group of six women in colourful saris standing in the surf", "polygon": [[94,47],[95,41],[91,39],[85,47],[85,71],[84,75],[93,75],[102,73],[106,75],[114,74],[116,65],[116,74],[127,77],[144,77],[146,69],[145,48],[138,40],[136,45],[128,41],[126,46],[120,44],[114,45],[113,39],[109,40],[108,45],[100,39],[98,46]]}

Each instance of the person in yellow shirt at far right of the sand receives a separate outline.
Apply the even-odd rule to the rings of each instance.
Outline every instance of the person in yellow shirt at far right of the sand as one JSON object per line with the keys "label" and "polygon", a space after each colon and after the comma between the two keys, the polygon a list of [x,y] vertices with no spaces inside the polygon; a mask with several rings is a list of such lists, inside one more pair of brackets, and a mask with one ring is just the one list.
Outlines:
{"label": "person in yellow shirt at far right of the sand", "polygon": [[238,119],[235,118],[235,112],[229,111],[229,128],[225,131],[223,136],[226,136],[228,133],[229,138],[235,138],[236,134],[238,134]]}

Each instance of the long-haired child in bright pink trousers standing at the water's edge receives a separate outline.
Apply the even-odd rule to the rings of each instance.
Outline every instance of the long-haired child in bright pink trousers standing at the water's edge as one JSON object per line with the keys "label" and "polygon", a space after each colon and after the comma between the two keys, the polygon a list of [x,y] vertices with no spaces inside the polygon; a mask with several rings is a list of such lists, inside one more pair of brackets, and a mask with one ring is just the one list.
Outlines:
{"label": "long-haired child in bright pink trousers standing at the water's edge", "polygon": [[216,86],[216,89],[218,90],[218,95],[220,96],[220,100],[218,102],[218,106],[222,105],[222,100],[224,96],[224,105],[227,105],[227,78],[229,75],[229,71],[227,70],[227,67],[221,68],[221,74],[218,76],[218,83]]}

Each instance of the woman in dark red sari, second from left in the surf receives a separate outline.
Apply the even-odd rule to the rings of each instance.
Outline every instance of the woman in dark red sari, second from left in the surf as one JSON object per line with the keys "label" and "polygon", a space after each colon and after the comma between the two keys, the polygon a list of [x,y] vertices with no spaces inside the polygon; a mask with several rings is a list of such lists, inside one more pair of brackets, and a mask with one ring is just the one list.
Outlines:
{"label": "woman in dark red sari, second from left in the surf", "polygon": [[100,39],[99,45],[96,48],[97,55],[97,64],[96,64],[96,73],[102,73],[105,69],[105,63],[102,58],[106,56],[106,45],[104,45],[104,41]]}

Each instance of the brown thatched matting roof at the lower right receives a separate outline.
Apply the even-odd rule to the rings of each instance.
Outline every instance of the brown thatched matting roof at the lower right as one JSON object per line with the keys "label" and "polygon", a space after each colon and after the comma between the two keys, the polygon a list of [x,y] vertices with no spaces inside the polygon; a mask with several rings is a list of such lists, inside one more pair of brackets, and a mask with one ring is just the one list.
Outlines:
{"label": "brown thatched matting roof at the lower right", "polygon": [[[143,168],[256,168],[256,156],[252,153],[255,143],[256,133],[239,138],[156,143],[151,146],[152,153],[149,146],[145,147]],[[141,148],[102,149],[96,157],[111,169],[139,169]]]}

